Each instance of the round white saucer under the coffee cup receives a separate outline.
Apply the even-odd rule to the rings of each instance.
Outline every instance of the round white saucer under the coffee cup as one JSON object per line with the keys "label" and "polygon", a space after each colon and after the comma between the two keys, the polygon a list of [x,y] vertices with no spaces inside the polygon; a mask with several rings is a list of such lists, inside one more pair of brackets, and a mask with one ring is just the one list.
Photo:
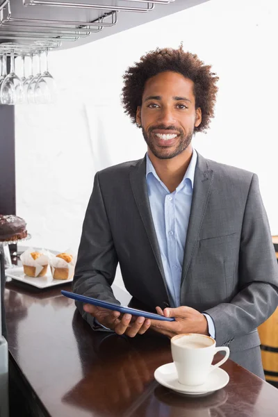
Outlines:
{"label": "round white saucer under the coffee cup", "polygon": [[154,377],[159,384],[165,386],[172,391],[179,394],[186,395],[206,395],[208,393],[214,393],[218,389],[223,388],[229,382],[229,375],[222,368],[215,368],[211,371],[208,379],[204,384],[191,386],[180,384],[177,379],[177,370],[174,366],[174,362],[166,363],[160,366],[154,372]]}

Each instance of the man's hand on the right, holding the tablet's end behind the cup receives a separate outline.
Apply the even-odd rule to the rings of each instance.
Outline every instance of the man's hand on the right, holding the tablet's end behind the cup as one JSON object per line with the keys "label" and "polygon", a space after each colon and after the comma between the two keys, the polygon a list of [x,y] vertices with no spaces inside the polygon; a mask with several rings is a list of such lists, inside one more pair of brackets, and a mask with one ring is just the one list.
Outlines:
{"label": "man's hand on the right, holding the tablet's end behind the cup", "polygon": [[156,307],[156,311],[161,316],[175,318],[175,321],[172,322],[151,320],[151,328],[158,333],[165,334],[170,338],[183,333],[199,333],[209,336],[206,317],[195,309],[181,306],[177,309],[164,309],[162,311],[160,307]]}

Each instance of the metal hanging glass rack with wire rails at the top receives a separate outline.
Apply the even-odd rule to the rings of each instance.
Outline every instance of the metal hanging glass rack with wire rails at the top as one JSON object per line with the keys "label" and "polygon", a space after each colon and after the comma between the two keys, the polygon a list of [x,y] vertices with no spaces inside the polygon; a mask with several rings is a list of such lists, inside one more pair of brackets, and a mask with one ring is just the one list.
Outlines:
{"label": "metal hanging glass rack with wire rails at the top", "polygon": [[[109,2],[109,0],[107,0]],[[85,20],[40,19],[36,17],[15,17],[11,6],[12,0],[0,0],[0,42],[11,41],[13,43],[32,44],[35,40],[48,42],[59,40],[74,42],[79,38],[85,38],[93,33],[98,33],[104,28],[117,24],[117,13],[133,12],[148,13],[154,10],[155,4],[172,3],[174,0],[120,0],[123,5],[104,3],[100,0],[88,0],[87,3],[72,1],[50,0],[22,0],[22,10],[28,6],[43,6],[45,10],[50,8],[85,9],[99,11],[99,17],[88,22]],[[98,2],[98,3],[97,3]],[[113,4],[112,4],[113,2]],[[126,4],[128,3],[128,6]],[[137,3],[142,6],[130,6]],[[14,3],[15,6],[15,3]]]}

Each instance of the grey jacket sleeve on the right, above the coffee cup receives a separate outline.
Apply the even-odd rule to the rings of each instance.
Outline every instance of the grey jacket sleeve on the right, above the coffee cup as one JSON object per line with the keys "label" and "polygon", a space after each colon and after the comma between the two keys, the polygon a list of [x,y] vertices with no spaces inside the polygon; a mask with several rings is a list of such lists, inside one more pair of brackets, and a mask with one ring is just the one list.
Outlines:
{"label": "grey jacket sleeve on the right, above the coffee cup", "polygon": [[270,227],[253,175],[240,236],[238,293],[229,303],[204,311],[213,319],[217,345],[252,332],[278,304],[278,265]]}

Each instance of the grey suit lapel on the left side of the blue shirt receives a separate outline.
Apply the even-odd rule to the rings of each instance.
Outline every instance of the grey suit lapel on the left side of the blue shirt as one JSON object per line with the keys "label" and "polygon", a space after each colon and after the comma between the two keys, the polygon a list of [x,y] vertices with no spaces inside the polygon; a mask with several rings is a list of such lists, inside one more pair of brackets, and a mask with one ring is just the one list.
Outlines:
{"label": "grey suit lapel on the left side of the blue shirt", "polygon": [[154,257],[156,259],[156,263],[158,264],[159,271],[161,272],[161,276],[163,277],[165,290],[167,291],[167,295],[169,298],[169,291],[167,288],[167,283],[163,270],[163,263],[161,261],[161,252],[156,237],[156,230],[154,227],[154,221],[152,218],[152,211],[151,206],[149,204],[149,196],[147,192],[146,156],[145,158],[140,159],[140,161],[138,161],[136,165],[131,165],[130,181],[134,199],[136,201],[138,211],[142,218],[142,222],[145,226],[145,230],[149,238],[149,243],[152,247],[152,252],[154,253]]}

